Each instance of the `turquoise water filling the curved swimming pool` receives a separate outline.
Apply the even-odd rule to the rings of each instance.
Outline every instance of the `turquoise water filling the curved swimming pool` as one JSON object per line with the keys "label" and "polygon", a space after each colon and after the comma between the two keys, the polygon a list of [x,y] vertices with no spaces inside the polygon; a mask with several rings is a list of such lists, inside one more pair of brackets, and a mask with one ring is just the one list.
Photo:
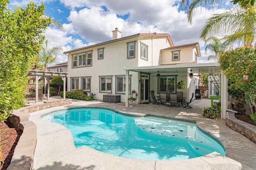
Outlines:
{"label": "turquoise water filling the curved swimming pool", "polygon": [[142,160],[182,160],[211,152],[225,155],[222,146],[195,123],[160,117],[130,117],[109,109],[83,107],[56,111],[42,119],[67,127],[76,147]]}

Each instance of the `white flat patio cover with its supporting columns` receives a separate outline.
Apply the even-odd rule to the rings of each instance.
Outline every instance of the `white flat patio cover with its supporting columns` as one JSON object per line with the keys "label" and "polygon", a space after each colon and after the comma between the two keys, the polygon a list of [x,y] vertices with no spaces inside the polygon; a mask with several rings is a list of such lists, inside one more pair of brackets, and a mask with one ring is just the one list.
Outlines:
{"label": "white flat patio cover with its supporting columns", "polygon": [[[162,65],[162,66],[142,66],[142,67],[124,67],[126,70],[126,84],[129,84],[129,73],[147,73],[147,74],[183,74],[186,75],[192,70],[193,74],[202,73],[218,73],[220,75],[220,96],[221,96],[221,118],[226,119],[227,111],[227,79],[224,76],[223,71],[219,69],[218,63],[198,63],[198,64],[176,64],[176,65]],[[192,93],[192,92],[191,92]],[[129,96],[129,89],[126,88],[126,98]],[[128,100],[126,100],[125,106],[129,106]]]}

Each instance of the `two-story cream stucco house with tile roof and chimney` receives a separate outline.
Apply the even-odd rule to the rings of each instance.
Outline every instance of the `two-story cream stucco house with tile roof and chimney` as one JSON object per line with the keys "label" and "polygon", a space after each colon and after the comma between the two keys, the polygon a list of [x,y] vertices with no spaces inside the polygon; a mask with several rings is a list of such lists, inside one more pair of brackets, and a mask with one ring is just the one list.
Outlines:
{"label": "two-story cream stucco house with tile roof and chimney", "polygon": [[[127,101],[126,88],[136,102],[150,100],[150,91],[176,93],[176,84],[183,80],[188,88],[194,90],[198,80],[188,78],[188,68],[182,72],[158,72],[160,66],[173,64],[194,64],[200,57],[198,43],[174,46],[168,33],[138,33],[121,37],[116,28],[113,39],[103,43],[66,51],[68,54],[68,91],[83,89],[96,94],[103,100],[103,95],[120,95],[121,102]],[[130,71],[127,67],[152,67],[149,72]],[[156,74],[160,76],[156,76]],[[126,77],[129,80],[126,81]],[[128,85],[126,85],[128,83]],[[132,91],[134,93],[132,93]],[[180,91],[180,90],[178,90]],[[188,98],[188,89],[183,90]]]}

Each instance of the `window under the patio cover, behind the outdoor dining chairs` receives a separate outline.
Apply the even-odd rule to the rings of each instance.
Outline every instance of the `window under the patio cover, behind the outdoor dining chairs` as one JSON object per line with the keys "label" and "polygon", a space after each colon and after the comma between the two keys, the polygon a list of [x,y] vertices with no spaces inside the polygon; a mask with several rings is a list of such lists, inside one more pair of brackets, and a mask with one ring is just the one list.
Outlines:
{"label": "window under the patio cover, behind the outdoor dining chairs", "polygon": [[158,81],[158,92],[176,93],[176,76],[160,77]]}

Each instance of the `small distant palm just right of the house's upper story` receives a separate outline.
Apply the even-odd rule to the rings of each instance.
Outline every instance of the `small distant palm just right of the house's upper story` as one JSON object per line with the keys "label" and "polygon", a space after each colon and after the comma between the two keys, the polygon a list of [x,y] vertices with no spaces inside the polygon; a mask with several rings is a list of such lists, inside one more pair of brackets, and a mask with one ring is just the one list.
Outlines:
{"label": "small distant palm just right of the house's upper story", "polygon": [[220,39],[218,39],[217,37],[213,37],[213,36],[206,39],[205,42],[206,43],[209,42],[205,46],[205,53],[207,51],[210,51],[212,53],[212,55],[208,56],[208,60],[213,60],[213,61],[217,62],[219,60],[220,53],[222,53],[222,51],[224,51],[226,44],[222,43]]}

